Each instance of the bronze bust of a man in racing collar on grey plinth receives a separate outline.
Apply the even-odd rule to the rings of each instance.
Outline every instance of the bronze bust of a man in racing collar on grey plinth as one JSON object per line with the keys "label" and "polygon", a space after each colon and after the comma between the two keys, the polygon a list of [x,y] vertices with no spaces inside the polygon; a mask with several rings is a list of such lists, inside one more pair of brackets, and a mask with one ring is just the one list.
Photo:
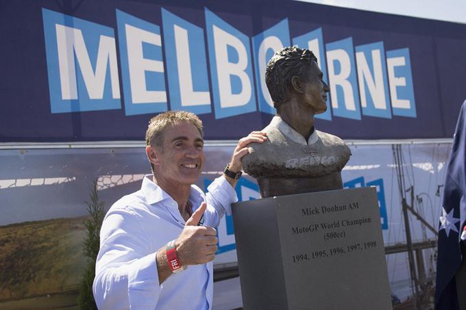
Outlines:
{"label": "bronze bust of a man in racing collar on grey plinth", "polygon": [[351,152],[343,140],[314,127],[329,92],[315,55],[298,47],[277,51],[265,81],[277,115],[262,129],[268,140],[249,144],[243,157],[262,198],[343,188],[341,170]]}

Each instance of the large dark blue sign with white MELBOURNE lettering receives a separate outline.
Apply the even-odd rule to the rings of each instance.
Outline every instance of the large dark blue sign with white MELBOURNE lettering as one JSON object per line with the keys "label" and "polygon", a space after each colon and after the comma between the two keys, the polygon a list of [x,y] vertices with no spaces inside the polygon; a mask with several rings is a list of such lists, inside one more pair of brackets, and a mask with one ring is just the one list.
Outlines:
{"label": "large dark blue sign with white MELBOURNE lettering", "polygon": [[317,127],[342,138],[450,138],[465,96],[451,89],[465,25],[297,1],[36,4],[0,13],[23,25],[0,29],[2,142],[142,140],[169,109],[199,114],[206,139],[240,138],[275,114],[265,68],[291,44],[317,56],[330,87]]}

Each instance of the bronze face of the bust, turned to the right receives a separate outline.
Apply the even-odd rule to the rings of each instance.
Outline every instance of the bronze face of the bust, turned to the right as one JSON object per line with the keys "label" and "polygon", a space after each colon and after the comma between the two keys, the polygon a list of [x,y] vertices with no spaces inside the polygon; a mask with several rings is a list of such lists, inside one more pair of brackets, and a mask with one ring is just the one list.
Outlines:
{"label": "bronze face of the bust, turned to the right", "polygon": [[314,110],[314,114],[321,114],[327,110],[327,93],[330,89],[322,77],[322,71],[317,62],[312,60],[308,70],[308,80],[303,83],[303,97],[306,104]]}

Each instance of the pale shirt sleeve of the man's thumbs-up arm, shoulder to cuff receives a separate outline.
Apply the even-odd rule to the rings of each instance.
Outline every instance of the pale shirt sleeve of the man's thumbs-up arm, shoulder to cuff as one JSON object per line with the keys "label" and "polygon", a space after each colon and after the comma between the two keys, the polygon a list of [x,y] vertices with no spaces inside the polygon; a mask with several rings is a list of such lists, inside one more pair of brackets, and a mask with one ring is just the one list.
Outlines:
{"label": "pale shirt sleeve of the man's thumbs-up arm, shoulder to cuff", "polygon": [[139,216],[126,207],[111,209],[103,220],[93,284],[99,309],[129,309],[130,305],[154,309],[157,305],[157,252]]}

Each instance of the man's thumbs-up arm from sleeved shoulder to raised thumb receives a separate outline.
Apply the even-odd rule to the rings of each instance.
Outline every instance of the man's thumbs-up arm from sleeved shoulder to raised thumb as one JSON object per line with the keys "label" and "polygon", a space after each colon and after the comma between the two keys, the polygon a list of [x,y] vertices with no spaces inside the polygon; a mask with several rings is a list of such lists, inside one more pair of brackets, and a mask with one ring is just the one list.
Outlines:
{"label": "man's thumbs-up arm from sleeved shoulder to raised thumb", "polygon": [[[217,252],[216,231],[197,226],[205,209],[203,203],[175,240],[182,266],[207,263]],[[137,220],[139,216],[130,209],[116,209],[103,221],[93,285],[99,309],[128,309],[130,305],[154,309],[160,296],[160,284],[172,274],[166,247],[151,253],[151,237],[154,236],[142,230]],[[169,241],[163,240],[163,243]]]}

